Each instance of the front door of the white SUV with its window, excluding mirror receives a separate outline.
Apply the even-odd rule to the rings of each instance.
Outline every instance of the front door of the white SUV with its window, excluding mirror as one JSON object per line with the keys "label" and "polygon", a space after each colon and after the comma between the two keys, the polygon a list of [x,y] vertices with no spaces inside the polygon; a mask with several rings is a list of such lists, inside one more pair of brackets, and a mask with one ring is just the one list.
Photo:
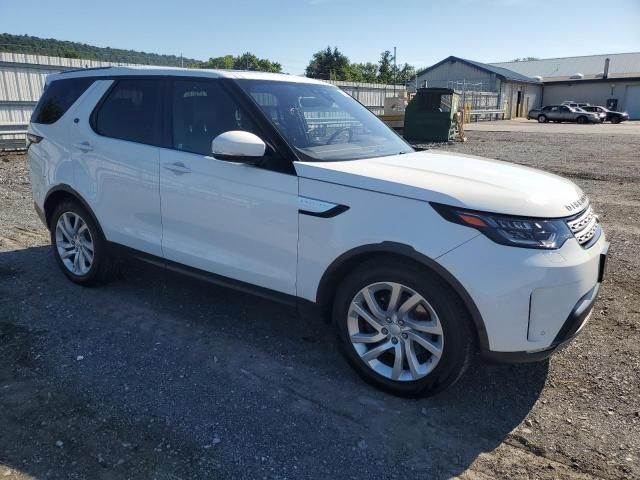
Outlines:
{"label": "front door of the white SUV with its window, excluding mirror", "polygon": [[294,295],[298,178],[211,156],[220,133],[265,138],[220,80],[176,78],[170,88],[171,148],[160,151],[164,257]]}

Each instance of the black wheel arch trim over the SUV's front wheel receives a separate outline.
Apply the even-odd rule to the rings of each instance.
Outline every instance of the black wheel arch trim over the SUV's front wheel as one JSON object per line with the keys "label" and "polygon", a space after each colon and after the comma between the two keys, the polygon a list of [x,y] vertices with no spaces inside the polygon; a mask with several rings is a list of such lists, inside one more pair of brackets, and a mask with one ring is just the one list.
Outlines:
{"label": "black wheel arch trim over the SUV's front wheel", "polygon": [[331,306],[340,280],[357,265],[376,257],[408,259],[438,275],[451,287],[467,308],[473,321],[474,331],[481,350],[483,352],[489,350],[489,338],[482,315],[464,286],[446,268],[432,258],[417,252],[409,245],[396,242],[382,242],[356,247],[340,255],[329,265],[320,279],[316,294],[316,304],[320,307],[325,320],[329,321],[331,318]]}

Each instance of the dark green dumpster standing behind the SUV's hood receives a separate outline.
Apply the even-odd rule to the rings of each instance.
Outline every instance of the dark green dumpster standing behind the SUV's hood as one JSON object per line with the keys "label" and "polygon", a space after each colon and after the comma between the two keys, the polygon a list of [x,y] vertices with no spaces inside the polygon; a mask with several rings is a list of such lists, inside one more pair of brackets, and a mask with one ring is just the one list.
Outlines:
{"label": "dark green dumpster standing behind the SUV's hood", "polygon": [[456,114],[460,93],[451,88],[419,88],[405,109],[407,140],[447,142],[458,134]]}

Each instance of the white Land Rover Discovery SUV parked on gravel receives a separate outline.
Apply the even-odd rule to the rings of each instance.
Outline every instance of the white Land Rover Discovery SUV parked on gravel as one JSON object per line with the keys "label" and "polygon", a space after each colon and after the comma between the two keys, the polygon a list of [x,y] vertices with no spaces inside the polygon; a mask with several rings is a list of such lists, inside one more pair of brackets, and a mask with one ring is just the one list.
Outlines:
{"label": "white Land Rover Discovery SUV parked on gravel", "polygon": [[111,67],[46,84],[33,197],[78,284],[126,251],[313,307],[367,381],[413,396],[475,351],[545,358],[592,310],[608,244],[568,180],[415,152],[307,78]]}

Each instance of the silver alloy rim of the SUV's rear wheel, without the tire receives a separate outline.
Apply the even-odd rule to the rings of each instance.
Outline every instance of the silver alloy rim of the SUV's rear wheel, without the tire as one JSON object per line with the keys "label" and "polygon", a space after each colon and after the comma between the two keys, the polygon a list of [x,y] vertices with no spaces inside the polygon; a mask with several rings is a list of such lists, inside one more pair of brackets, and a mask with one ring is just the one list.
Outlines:
{"label": "silver alloy rim of the SUV's rear wheel, without the tire", "polygon": [[94,257],[93,237],[87,223],[73,212],[65,212],[56,223],[56,249],[65,268],[86,275]]}

